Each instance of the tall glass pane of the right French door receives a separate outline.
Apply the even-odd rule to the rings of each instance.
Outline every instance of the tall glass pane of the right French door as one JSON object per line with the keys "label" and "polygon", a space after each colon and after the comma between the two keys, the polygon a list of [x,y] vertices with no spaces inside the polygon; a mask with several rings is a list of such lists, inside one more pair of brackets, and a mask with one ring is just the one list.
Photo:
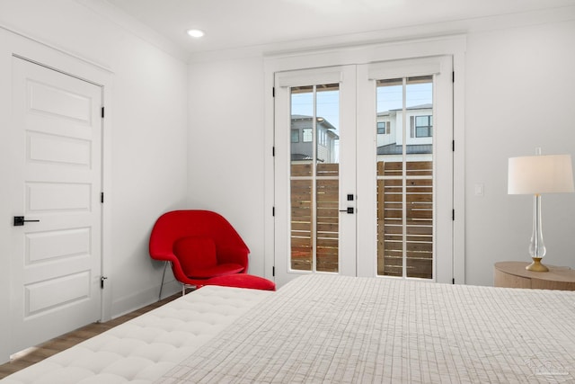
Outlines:
{"label": "tall glass pane of the right French door", "polygon": [[379,80],[376,97],[377,274],[432,279],[433,76]]}

